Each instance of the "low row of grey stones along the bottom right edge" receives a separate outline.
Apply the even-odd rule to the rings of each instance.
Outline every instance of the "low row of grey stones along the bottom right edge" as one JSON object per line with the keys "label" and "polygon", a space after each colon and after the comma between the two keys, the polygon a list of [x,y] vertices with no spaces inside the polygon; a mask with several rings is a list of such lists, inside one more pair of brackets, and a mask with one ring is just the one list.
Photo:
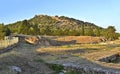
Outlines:
{"label": "low row of grey stones along the bottom right edge", "polygon": [[[65,70],[73,70],[82,74],[120,74],[119,70],[111,70],[102,67],[79,66],[71,63],[62,64]],[[77,68],[76,68],[77,67]]]}

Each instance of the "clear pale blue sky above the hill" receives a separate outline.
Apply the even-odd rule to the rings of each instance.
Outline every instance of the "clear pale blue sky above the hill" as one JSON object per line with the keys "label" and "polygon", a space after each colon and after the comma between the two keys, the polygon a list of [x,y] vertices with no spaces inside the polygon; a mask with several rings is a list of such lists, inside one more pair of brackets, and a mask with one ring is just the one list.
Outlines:
{"label": "clear pale blue sky above the hill", "polygon": [[37,14],[64,15],[120,32],[120,0],[0,0],[0,23],[30,19]]}

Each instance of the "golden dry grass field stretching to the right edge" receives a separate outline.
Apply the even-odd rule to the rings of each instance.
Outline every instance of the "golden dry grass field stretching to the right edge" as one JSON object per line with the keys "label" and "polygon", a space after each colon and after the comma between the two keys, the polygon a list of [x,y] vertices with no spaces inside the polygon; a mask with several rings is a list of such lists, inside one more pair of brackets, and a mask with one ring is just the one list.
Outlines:
{"label": "golden dry grass field stretching to the right edge", "polygon": [[[118,43],[107,44],[73,44],[64,46],[51,46],[46,48],[39,48],[36,51],[40,54],[40,58],[44,61],[54,62],[63,61],[65,59],[69,62],[76,59],[82,60],[85,58],[91,62],[97,63],[101,66],[110,68],[120,68],[120,65],[113,63],[99,62],[98,59],[110,56],[120,52],[120,44]],[[45,55],[45,53],[47,53]],[[44,54],[43,56],[41,54]]]}

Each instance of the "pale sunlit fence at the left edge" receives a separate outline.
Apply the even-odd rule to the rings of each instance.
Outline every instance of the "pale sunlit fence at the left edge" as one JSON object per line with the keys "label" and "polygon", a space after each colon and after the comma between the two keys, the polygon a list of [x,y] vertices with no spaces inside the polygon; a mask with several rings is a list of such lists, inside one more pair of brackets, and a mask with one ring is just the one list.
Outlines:
{"label": "pale sunlit fence at the left edge", "polygon": [[0,40],[0,49],[7,48],[16,43],[18,43],[18,37],[12,37],[10,39]]}

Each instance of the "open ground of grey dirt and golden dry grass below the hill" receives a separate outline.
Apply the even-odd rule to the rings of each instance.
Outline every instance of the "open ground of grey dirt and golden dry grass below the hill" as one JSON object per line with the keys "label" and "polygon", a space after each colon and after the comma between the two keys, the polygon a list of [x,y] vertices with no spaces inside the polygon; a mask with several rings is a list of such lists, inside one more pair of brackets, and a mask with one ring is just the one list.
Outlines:
{"label": "open ground of grey dirt and golden dry grass below the hill", "polygon": [[[43,45],[44,42],[49,45]],[[119,53],[119,49],[120,40],[96,44],[69,44],[45,38],[38,45],[20,42],[12,50],[0,54],[0,74],[16,74],[11,69],[12,66],[19,67],[22,74],[53,74],[53,70],[45,63],[119,71],[120,64],[98,61],[100,58]]]}

